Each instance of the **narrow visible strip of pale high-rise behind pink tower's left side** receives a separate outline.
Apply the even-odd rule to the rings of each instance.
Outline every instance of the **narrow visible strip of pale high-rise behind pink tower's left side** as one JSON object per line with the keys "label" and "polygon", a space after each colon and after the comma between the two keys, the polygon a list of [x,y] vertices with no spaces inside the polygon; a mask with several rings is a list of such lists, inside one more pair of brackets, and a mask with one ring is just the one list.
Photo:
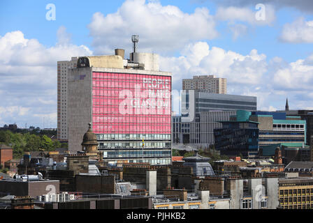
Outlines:
{"label": "narrow visible strip of pale high-rise behind pink tower's left side", "polygon": [[59,141],[68,141],[68,68],[75,68],[77,60],[77,57],[72,57],[71,61],[57,61],[57,139]]}

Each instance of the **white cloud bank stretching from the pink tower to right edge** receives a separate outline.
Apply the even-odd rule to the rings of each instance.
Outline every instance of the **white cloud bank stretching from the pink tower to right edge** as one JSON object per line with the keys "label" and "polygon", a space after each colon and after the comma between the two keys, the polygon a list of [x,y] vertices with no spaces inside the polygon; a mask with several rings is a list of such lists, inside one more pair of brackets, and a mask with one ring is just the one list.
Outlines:
{"label": "white cloud bank stretching from the pink tower to right edge", "polygon": [[183,78],[193,75],[226,77],[228,94],[256,96],[258,109],[273,111],[284,109],[286,97],[294,109],[313,104],[312,58],[292,63],[279,57],[266,61],[266,55],[256,49],[242,55],[196,42],[184,47],[180,56],[160,56],[160,68],[173,72],[173,89],[177,90],[182,89]]}

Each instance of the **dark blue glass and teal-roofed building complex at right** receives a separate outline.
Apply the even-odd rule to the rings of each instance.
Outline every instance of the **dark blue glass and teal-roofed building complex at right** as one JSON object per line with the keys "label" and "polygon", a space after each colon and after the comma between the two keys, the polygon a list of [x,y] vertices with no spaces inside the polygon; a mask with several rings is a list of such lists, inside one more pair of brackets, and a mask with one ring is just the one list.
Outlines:
{"label": "dark blue glass and teal-roofed building complex at right", "polygon": [[305,148],[305,121],[297,116],[286,116],[285,112],[238,110],[237,115],[231,117],[231,121],[222,123],[222,129],[214,130],[214,137],[216,148],[225,155],[239,155],[242,148],[249,148],[251,153],[242,153],[248,157],[275,155],[277,146],[302,145]]}

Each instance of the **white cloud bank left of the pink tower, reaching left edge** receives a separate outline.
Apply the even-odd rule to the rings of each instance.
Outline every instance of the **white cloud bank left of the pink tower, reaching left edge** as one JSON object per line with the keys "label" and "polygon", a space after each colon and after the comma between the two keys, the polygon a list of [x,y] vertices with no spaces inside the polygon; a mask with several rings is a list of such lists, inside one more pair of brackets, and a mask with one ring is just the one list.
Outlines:
{"label": "white cloud bank left of the pink tower, reaching left edge", "polygon": [[[71,44],[63,26],[57,31],[57,39],[56,45],[46,47],[36,39],[25,38],[22,31],[0,36],[1,123],[24,126],[38,121],[34,114],[45,116],[57,110],[57,61],[92,54],[85,45]],[[57,122],[56,116],[51,118]]]}

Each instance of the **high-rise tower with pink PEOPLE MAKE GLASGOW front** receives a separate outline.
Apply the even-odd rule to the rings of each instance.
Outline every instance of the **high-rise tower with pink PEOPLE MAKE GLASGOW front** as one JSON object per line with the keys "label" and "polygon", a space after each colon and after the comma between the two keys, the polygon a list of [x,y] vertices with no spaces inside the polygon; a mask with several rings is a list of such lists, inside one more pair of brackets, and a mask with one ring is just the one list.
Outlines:
{"label": "high-rise tower with pink PEOPLE MAKE GLASGOW front", "polygon": [[170,164],[171,73],[128,68],[118,55],[78,61],[68,72],[69,150],[81,150],[92,123],[103,160]]}

